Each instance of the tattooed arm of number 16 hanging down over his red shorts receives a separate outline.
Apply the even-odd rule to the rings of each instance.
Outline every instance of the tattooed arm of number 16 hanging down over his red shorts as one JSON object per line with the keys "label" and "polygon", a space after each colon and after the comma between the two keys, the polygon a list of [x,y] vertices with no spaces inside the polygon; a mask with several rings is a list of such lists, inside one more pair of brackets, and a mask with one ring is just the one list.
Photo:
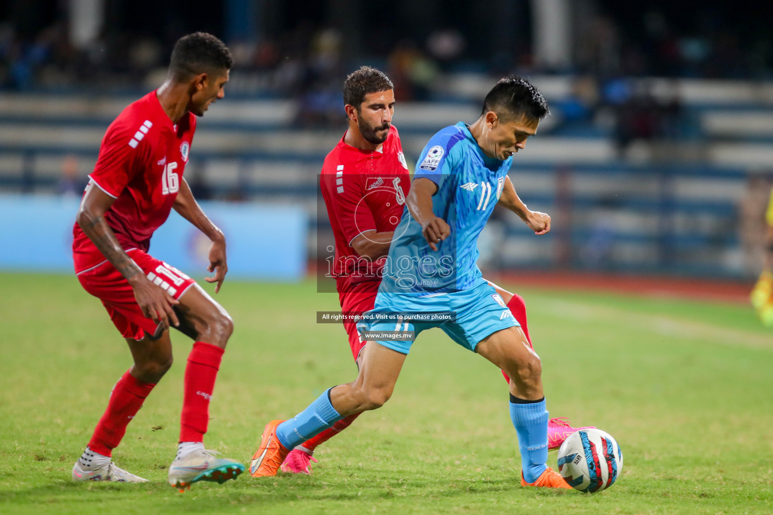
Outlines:
{"label": "tattooed arm of number 16 hanging down over his red shorts", "polygon": [[179,301],[172,298],[160,286],[156,286],[148,280],[140,267],[127,256],[113,230],[107,225],[104,214],[114,201],[113,197],[107,195],[92,182],[83,195],[80,208],[78,208],[76,220],[80,229],[94,242],[97,249],[102,252],[102,255],[110,261],[115,269],[126,278],[131,289],[135,292],[135,299],[145,317],[149,317],[155,322],[162,322],[164,327],[169,327],[170,322],[179,326],[175,310],[172,310],[172,306],[179,304]]}

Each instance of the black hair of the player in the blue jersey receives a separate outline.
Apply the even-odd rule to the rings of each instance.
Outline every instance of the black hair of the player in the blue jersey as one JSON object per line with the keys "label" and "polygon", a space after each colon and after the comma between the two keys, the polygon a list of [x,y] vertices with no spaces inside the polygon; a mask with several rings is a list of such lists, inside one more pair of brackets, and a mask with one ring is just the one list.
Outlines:
{"label": "black hair of the player in the blue jersey", "polygon": [[503,120],[512,120],[522,114],[532,120],[542,120],[550,113],[547,100],[528,80],[521,76],[507,76],[492,87],[483,101],[483,112],[494,111]]}

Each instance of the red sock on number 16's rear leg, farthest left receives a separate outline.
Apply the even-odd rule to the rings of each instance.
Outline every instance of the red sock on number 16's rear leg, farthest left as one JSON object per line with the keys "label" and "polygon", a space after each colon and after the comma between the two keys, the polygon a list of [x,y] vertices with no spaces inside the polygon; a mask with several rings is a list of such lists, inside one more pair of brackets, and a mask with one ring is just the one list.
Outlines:
{"label": "red sock on number 16's rear leg, farthest left", "polygon": [[107,409],[99,419],[97,429],[94,429],[89,448],[103,456],[112,456],[113,449],[121,443],[126,434],[126,426],[135,418],[154,386],[155,384],[139,381],[126,371],[111,391]]}

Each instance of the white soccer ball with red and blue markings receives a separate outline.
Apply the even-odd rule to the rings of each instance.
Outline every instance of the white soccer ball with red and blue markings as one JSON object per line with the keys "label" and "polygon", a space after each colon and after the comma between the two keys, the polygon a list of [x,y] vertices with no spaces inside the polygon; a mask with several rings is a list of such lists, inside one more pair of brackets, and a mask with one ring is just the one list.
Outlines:
{"label": "white soccer ball with red and blue markings", "polygon": [[558,472],[575,490],[594,493],[609,488],[623,469],[618,442],[601,429],[581,429],[558,449]]}

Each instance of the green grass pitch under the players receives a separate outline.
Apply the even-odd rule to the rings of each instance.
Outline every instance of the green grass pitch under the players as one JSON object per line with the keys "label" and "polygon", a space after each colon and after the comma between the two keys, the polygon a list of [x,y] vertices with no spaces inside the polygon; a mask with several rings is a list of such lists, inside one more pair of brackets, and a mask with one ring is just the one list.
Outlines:
{"label": "green grass pitch under the players", "polygon": [[[392,400],[320,447],[312,476],[243,475],[181,494],[165,479],[192,342],[173,334],[177,363],[114,452],[152,483],[72,483],[128,349],[73,276],[5,273],[0,283],[0,513],[773,512],[773,332],[744,306],[520,291],[550,415],[597,425],[624,452],[622,476],[602,493],[519,486],[499,371],[431,330]],[[315,324],[338,300],[314,283],[226,281],[217,299],[236,330],[206,444],[248,463],[267,421],[356,369],[342,327]]]}

